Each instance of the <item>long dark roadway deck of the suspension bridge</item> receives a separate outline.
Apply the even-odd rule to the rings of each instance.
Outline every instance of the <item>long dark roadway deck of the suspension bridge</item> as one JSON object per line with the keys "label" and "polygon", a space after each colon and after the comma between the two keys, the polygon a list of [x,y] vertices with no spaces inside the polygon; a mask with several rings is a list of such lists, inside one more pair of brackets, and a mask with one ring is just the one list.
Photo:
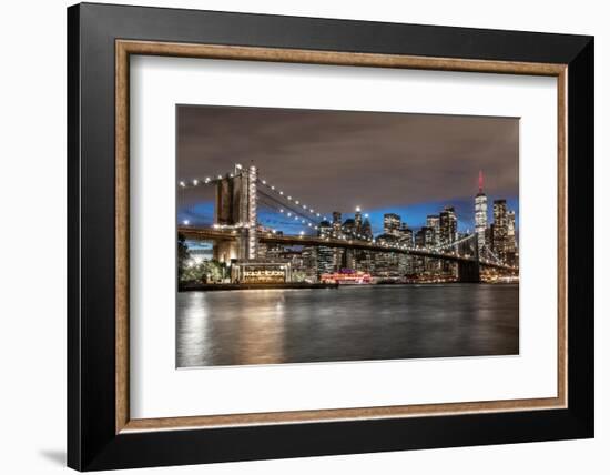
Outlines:
{"label": "long dark roadway deck of the suspension bridge", "polygon": [[[179,226],[177,232],[183,234],[186,239],[193,241],[214,241],[223,240],[231,241],[237,239],[236,231],[217,230],[214,228],[193,228],[193,226]],[[283,235],[273,233],[258,233],[258,241],[270,244],[284,244],[284,245],[312,245],[312,246],[326,246],[326,247],[343,247],[355,249],[362,251],[372,252],[397,252],[401,254],[417,255],[421,257],[440,259],[450,262],[475,262],[475,257],[462,256],[457,254],[445,254],[443,252],[436,252],[425,249],[400,249],[384,246],[377,243],[359,240],[343,240],[331,238],[318,238],[311,235]],[[490,269],[498,269],[504,271],[517,271],[517,267],[512,267],[506,264],[498,264],[490,261],[479,261],[479,265]]]}

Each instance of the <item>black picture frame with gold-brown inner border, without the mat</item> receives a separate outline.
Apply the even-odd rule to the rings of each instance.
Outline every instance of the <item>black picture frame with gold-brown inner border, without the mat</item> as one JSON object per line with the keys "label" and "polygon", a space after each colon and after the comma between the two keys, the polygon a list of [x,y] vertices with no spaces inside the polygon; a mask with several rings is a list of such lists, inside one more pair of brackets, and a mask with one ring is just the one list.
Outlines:
{"label": "black picture frame with gold-brown inner border, without the mat", "polygon": [[[130,54],[557,77],[558,396],[131,420]],[[68,145],[69,466],[90,471],[593,435],[591,37],[79,4],[68,10]]]}

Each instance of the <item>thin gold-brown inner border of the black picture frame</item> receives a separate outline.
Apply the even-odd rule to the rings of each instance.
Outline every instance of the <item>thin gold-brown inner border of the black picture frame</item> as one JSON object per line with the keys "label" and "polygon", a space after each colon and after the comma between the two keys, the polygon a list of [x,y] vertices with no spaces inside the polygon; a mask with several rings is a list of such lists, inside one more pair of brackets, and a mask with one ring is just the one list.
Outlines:
{"label": "thin gold-brown inner border of the black picture frame", "polygon": [[[487,72],[557,78],[558,104],[558,387],[556,397],[308,410],[187,417],[130,418],[129,406],[129,97],[130,55],[291,62],[369,68]],[[555,63],[467,60],[156,41],[115,41],[115,433],[244,425],[439,416],[567,407],[567,94],[568,67]]]}

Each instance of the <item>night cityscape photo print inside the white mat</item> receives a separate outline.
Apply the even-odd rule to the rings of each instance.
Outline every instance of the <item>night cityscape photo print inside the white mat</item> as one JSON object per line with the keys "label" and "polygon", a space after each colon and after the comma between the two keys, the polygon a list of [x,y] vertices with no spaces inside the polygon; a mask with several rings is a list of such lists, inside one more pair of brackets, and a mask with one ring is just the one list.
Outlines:
{"label": "night cityscape photo print inside the white mat", "polygon": [[519,354],[519,119],[176,105],[176,367]]}

